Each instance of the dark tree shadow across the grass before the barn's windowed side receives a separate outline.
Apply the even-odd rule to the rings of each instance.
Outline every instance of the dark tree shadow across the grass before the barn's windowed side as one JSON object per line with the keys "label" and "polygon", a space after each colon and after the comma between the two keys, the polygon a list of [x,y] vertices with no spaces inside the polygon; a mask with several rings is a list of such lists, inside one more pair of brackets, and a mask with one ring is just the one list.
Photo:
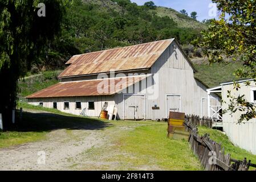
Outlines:
{"label": "dark tree shadow across the grass before the barn's windowed side", "polygon": [[53,113],[23,113],[22,121],[9,128],[8,131],[51,131],[57,129],[69,130],[102,130],[105,127],[112,126],[109,122],[100,121],[99,119],[76,117]]}

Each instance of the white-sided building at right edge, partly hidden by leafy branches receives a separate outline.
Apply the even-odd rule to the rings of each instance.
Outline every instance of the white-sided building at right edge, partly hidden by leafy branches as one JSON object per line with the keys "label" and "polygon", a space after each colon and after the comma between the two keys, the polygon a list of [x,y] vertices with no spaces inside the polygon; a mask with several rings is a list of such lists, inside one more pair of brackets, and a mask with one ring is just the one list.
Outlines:
{"label": "white-sided building at right edge, partly hidden by leafy branches", "polygon": [[[249,102],[255,102],[253,91],[256,90],[255,82],[251,80],[250,86],[245,85],[246,80],[238,81],[240,89],[234,90],[233,82],[222,83],[222,103],[223,109],[227,109],[230,101],[227,98],[227,90],[231,91],[232,96],[245,95],[245,99]],[[256,119],[250,119],[244,123],[238,124],[242,112],[223,114],[223,129],[231,142],[244,148],[247,151],[256,154]]]}

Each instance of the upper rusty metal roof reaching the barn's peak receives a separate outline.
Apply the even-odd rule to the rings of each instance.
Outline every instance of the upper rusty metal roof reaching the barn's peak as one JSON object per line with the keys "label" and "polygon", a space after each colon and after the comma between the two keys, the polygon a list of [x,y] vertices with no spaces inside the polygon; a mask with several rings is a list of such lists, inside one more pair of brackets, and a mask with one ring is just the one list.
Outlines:
{"label": "upper rusty metal roof reaching the barn's peak", "polygon": [[59,77],[151,68],[174,39],[75,55]]}

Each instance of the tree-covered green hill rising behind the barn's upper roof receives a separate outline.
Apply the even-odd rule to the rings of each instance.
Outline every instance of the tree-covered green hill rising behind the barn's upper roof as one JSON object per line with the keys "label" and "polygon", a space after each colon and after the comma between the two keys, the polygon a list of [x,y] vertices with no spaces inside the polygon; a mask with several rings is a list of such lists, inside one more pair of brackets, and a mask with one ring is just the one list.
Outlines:
{"label": "tree-covered green hill rising behind the barn's upper roof", "polygon": [[32,72],[63,69],[72,55],[101,49],[169,38],[188,45],[204,28],[170,8],[138,6],[129,0],[74,0],[63,17],[62,35],[48,44]]}

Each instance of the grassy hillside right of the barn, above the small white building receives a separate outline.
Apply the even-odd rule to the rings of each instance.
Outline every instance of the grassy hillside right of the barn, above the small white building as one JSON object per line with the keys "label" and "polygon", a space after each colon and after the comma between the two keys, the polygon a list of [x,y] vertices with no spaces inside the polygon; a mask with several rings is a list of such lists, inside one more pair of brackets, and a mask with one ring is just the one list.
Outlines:
{"label": "grassy hillside right of the barn, above the small white building", "polygon": [[238,68],[242,68],[242,64],[194,64],[194,67],[198,71],[194,76],[209,87],[214,87],[220,85],[221,82],[237,80],[238,78],[234,75],[234,72]]}

